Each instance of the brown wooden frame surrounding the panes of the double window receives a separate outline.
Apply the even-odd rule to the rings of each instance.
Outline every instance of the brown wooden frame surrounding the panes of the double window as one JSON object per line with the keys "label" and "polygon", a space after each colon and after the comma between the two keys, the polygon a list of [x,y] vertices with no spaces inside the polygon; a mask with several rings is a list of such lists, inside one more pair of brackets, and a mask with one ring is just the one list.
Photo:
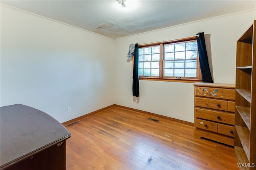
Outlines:
{"label": "brown wooden frame surrounding the panes of the double window", "polygon": [[[147,44],[141,44],[139,45],[139,48],[145,48],[145,47],[153,47],[156,45],[160,45],[160,61],[159,61],[159,76],[139,76],[139,80],[153,80],[153,81],[170,81],[170,82],[202,82],[202,74],[199,64],[199,57],[198,57],[198,48],[197,48],[197,57],[196,57],[196,77],[195,78],[188,78],[188,77],[181,77],[181,78],[174,78],[174,77],[168,77],[164,76],[164,45],[168,44],[174,44],[174,43],[185,43],[189,41],[195,41],[196,36],[194,37],[188,37],[188,38],[182,38],[182,39],[175,39],[170,41],[161,41],[157,43],[147,43]],[[184,61],[186,61],[184,59]],[[134,62],[134,57],[133,57]]]}

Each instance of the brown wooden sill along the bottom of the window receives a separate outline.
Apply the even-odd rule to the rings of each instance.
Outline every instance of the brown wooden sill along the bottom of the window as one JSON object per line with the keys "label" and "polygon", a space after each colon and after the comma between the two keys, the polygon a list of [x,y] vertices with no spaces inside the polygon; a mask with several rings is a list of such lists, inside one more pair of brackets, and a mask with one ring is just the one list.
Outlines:
{"label": "brown wooden sill along the bottom of the window", "polygon": [[164,81],[164,82],[185,82],[195,83],[202,82],[200,79],[181,79],[181,78],[159,78],[159,77],[139,77],[139,80],[150,80],[150,81]]}

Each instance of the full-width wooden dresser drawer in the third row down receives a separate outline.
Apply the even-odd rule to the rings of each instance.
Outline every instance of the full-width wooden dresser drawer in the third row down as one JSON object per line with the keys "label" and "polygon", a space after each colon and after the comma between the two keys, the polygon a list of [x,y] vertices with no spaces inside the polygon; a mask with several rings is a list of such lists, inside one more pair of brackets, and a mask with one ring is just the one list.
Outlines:
{"label": "full-width wooden dresser drawer in the third row down", "polygon": [[222,111],[195,108],[195,117],[234,125],[235,115]]}

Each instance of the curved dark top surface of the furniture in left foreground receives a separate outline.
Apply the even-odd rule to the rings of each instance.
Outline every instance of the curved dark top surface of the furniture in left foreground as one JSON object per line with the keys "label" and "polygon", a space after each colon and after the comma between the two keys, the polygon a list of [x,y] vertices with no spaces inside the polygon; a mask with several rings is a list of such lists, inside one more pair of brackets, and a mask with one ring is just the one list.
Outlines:
{"label": "curved dark top surface of the furniture in left foreground", "polygon": [[0,168],[68,139],[71,134],[60,122],[38,109],[15,104],[0,107]]}

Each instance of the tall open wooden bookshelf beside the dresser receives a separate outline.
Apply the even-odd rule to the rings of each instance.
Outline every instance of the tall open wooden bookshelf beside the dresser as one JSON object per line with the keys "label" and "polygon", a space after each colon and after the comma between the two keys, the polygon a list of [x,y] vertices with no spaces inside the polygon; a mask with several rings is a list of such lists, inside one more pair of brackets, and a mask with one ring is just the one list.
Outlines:
{"label": "tall open wooden bookshelf beside the dresser", "polygon": [[240,169],[256,170],[256,21],[237,40],[234,150]]}

